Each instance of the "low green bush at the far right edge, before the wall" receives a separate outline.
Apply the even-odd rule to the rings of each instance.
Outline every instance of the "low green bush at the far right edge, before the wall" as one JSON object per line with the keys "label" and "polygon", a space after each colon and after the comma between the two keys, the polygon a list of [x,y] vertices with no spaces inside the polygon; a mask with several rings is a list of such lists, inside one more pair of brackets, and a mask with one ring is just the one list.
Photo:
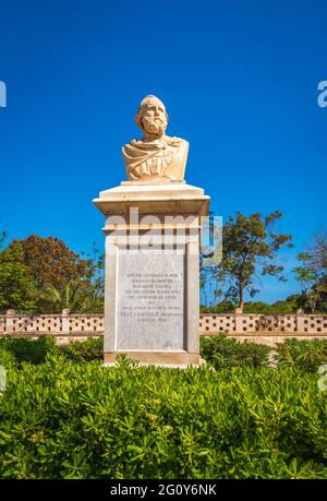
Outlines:
{"label": "low green bush at the far right edge, before the wall", "polygon": [[327,341],[286,339],[278,345],[276,359],[280,367],[296,367],[305,372],[317,372],[327,363]]}

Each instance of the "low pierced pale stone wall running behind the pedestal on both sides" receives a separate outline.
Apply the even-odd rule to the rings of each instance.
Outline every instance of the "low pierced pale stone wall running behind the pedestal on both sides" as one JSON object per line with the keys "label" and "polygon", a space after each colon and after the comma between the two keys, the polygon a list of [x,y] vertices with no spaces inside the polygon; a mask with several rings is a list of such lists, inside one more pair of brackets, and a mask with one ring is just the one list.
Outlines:
{"label": "low pierced pale stone wall running behind the pedestal on both sides", "polygon": [[[199,315],[199,333],[209,336],[227,332],[240,341],[272,343],[286,337],[327,338],[327,314],[243,314],[237,310],[228,314]],[[0,315],[0,336],[12,335],[37,337],[40,334],[53,335],[59,343],[72,339],[99,337],[104,334],[102,314],[61,314],[20,315],[13,310]],[[268,339],[271,338],[272,341]],[[261,339],[261,341],[258,341]],[[277,341],[278,339],[278,341]]]}

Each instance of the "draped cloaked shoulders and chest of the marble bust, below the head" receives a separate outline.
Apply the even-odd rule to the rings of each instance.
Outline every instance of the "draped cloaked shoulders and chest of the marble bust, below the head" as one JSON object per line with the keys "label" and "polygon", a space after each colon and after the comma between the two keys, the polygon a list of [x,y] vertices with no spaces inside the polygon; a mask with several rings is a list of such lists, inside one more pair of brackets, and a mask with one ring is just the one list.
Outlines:
{"label": "draped cloaked shoulders and chest of the marble bust, below the head", "polygon": [[128,177],[137,181],[148,177],[183,180],[189,143],[180,138],[162,141],[133,140],[122,148]]}

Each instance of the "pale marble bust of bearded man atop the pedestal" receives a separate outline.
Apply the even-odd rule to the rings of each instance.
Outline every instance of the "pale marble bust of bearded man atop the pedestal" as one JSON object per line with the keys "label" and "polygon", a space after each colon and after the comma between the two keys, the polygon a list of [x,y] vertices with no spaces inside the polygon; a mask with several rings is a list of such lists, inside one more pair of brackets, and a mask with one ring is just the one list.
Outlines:
{"label": "pale marble bust of bearded man atop the pedestal", "polygon": [[168,115],[158,97],[146,96],[140,104],[136,123],[143,131],[122,148],[130,181],[182,181],[187,160],[189,143],[166,135]]}

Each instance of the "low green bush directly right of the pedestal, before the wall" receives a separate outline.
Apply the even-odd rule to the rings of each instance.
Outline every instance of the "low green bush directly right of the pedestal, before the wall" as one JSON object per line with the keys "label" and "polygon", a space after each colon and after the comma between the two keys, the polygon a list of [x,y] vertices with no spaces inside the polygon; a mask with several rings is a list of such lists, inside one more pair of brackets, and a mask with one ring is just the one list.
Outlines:
{"label": "low green bush directly right of the pedestal, before the wall", "polygon": [[239,343],[223,334],[201,338],[201,355],[215,369],[267,365],[270,349],[247,341]]}

